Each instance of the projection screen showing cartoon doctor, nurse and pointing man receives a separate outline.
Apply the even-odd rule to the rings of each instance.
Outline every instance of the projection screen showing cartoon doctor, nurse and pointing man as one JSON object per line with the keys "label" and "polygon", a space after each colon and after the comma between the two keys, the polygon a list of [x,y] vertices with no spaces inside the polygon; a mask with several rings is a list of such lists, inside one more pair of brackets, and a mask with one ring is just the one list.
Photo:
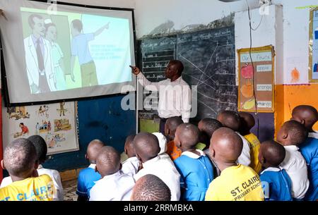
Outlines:
{"label": "projection screen showing cartoon doctor, nurse and pointing man", "polygon": [[131,9],[26,0],[1,0],[0,8],[6,15],[0,27],[11,104],[96,97],[135,87],[129,68],[135,65]]}

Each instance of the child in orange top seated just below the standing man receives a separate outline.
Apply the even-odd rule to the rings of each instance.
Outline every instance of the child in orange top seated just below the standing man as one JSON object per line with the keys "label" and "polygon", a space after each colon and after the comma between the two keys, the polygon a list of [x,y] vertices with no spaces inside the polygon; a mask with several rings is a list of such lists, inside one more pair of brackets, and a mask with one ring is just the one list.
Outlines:
{"label": "child in orange top seated just below the standing man", "polygon": [[177,130],[177,127],[182,124],[183,121],[181,118],[175,116],[170,117],[165,122],[165,136],[167,137],[167,140],[169,141],[167,143],[167,154],[170,156],[172,161],[177,159],[181,155],[181,149],[179,149],[175,145],[175,130]]}

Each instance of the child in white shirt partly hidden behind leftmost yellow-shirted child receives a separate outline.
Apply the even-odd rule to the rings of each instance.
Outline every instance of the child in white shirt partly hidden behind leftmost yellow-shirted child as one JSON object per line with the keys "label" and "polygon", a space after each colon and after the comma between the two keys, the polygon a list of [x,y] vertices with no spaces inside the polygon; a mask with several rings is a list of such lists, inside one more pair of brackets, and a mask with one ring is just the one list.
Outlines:
{"label": "child in white shirt partly hidden behind leftmost yellow-shirted child", "polygon": [[[39,166],[37,167],[37,173],[39,176],[47,174],[49,177],[52,178],[54,183],[54,196],[53,201],[63,201],[64,200],[64,191],[63,186],[61,185],[61,176],[59,176],[59,171],[49,168],[43,168],[42,164],[45,163],[47,159],[47,143],[40,135],[32,135],[28,137],[33,145],[35,146],[35,152],[37,154],[37,161],[39,161]],[[4,178],[1,181],[0,188],[4,188],[7,185],[12,183],[12,179],[10,176]]]}

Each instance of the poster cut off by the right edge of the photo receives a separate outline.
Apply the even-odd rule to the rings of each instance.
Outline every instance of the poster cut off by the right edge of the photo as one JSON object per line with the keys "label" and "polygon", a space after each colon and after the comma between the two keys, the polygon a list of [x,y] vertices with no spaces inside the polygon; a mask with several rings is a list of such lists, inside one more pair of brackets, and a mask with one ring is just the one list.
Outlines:
{"label": "poster cut off by the right edge of the photo", "polygon": [[310,11],[309,81],[318,82],[318,7]]}

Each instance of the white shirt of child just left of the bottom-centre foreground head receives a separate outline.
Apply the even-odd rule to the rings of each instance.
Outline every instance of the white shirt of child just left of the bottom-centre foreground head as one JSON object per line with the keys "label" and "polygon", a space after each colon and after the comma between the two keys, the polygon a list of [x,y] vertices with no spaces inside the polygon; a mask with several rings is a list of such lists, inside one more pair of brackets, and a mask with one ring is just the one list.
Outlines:
{"label": "white shirt of child just left of the bottom-centre foreground head", "polygon": [[134,185],[134,178],[119,170],[95,183],[90,189],[90,201],[129,201]]}

